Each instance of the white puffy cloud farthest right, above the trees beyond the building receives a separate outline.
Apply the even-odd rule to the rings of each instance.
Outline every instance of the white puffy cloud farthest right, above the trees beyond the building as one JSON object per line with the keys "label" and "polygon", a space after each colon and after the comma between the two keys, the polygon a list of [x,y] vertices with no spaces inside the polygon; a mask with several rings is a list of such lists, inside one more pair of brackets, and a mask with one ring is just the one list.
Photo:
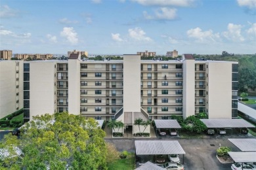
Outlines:
{"label": "white puffy cloud farthest right, above the trees beyond the building", "polygon": [[230,23],[228,24],[228,31],[224,31],[223,36],[232,41],[244,41],[244,37],[241,35],[242,27],[242,25]]}

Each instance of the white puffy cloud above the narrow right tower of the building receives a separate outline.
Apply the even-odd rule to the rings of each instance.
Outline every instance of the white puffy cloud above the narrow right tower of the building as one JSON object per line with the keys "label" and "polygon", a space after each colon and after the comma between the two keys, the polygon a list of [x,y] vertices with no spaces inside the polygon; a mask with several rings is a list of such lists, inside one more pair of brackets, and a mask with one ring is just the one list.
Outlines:
{"label": "white puffy cloud above the narrow right tower of the building", "polygon": [[192,28],[186,31],[186,34],[190,38],[194,38],[199,42],[217,41],[220,38],[219,33],[213,33],[211,29],[208,31],[202,31],[200,27]]}

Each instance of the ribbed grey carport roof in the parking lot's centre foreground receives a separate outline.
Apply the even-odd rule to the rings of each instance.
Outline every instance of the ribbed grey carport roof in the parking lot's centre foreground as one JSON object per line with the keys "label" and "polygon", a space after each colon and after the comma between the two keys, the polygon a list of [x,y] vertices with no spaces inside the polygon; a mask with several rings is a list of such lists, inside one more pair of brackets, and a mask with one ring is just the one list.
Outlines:
{"label": "ribbed grey carport roof in the parking lot's centre foreground", "polygon": [[179,141],[135,141],[137,155],[186,154]]}

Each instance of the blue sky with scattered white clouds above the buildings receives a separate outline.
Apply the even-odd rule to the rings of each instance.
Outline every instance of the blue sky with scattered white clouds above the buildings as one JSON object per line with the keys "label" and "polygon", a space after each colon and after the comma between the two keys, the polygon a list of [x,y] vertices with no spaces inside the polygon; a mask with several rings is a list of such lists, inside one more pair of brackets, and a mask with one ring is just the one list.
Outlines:
{"label": "blue sky with scattered white clouds above the buildings", "polygon": [[1,0],[0,49],[254,54],[256,0]]}

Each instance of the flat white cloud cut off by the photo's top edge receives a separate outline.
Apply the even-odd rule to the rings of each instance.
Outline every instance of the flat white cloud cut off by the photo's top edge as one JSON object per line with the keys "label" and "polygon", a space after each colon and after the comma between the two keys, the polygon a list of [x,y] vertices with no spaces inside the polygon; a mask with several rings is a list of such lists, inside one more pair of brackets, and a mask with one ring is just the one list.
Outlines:
{"label": "flat white cloud cut off by the photo's top edge", "polygon": [[194,0],[132,0],[141,5],[156,5],[156,6],[177,6],[188,7],[194,3]]}

